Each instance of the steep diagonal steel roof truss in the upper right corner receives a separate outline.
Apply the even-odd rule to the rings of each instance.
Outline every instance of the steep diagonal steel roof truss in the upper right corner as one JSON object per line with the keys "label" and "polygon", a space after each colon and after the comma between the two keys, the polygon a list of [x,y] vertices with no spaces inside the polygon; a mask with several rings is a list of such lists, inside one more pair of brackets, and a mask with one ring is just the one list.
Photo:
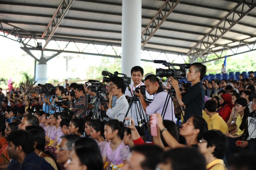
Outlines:
{"label": "steep diagonal steel roof truss in the upper right corner", "polygon": [[[212,45],[214,45],[219,38],[221,38],[226,32],[228,32],[234,25],[239,22],[239,20],[246,16],[256,6],[256,3],[252,4],[251,6],[248,5],[249,9],[243,13],[245,2],[246,0],[242,0],[240,3],[238,3],[238,5],[236,5],[216,26],[214,26],[211,31],[209,31],[193,48],[189,50],[189,52],[187,53],[188,56],[193,51],[193,58],[190,59],[190,63],[193,63],[197,58],[201,57],[203,53],[207,51]],[[242,7],[241,15],[236,13],[236,10],[239,7]],[[234,19],[235,14],[239,16],[238,19]],[[230,16],[233,16],[232,22],[227,21],[227,18]],[[225,24],[229,26],[227,29],[225,29]],[[219,28],[220,25],[224,25],[224,27],[221,29]],[[221,35],[217,35],[217,31],[221,32]],[[211,36],[211,33],[214,33],[215,35]],[[210,44],[203,43],[203,41],[209,42],[209,39],[213,40]],[[197,51],[196,48],[199,48],[200,50]]]}

